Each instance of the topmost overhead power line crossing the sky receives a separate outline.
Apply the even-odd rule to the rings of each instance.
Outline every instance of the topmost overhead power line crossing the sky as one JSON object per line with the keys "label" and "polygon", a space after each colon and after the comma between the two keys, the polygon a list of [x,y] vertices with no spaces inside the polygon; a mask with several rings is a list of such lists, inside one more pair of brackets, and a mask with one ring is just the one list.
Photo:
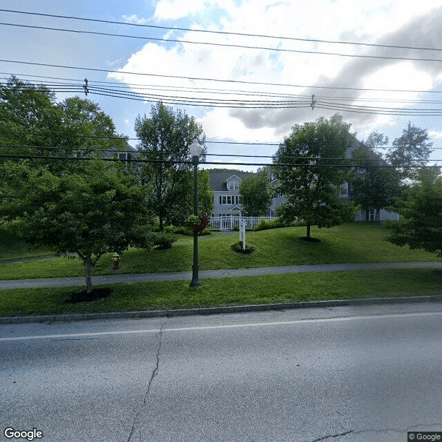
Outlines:
{"label": "topmost overhead power line crossing the sky", "polygon": [[218,34],[218,35],[238,35],[241,37],[260,37],[267,39],[280,39],[280,40],[291,40],[291,41],[306,41],[309,43],[327,43],[327,44],[345,44],[345,45],[354,45],[354,46],[367,46],[372,48],[390,48],[390,49],[411,49],[411,50],[433,50],[433,51],[442,51],[441,48],[427,48],[427,47],[419,47],[419,46],[399,46],[399,45],[387,45],[387,44],[369,44],[362,43],[356,41],[338,41],[338,40],[324,40],[324,39],[302,39],[298,37],[286,37],[282,35],[265,35],[265,34],[251,34],[246,32],[227,32],[227,31],[217,31],[217,30],[204,30],[204,29],[190,29],[190,28],[176,28],[171,26],[158,26],[158,25],[148,25],[145,23],[129,23],[127,21],[113,21],[113,20],[104,20],[104,19],[89,19],[85,17],[74,17],[74,16],[66,16],[66,15],[55,15],[55,14],[44,14],[41,12],[28,12],[28,11],[18,11],[18,10],[10,10],[10,9],[0,9],[2,12],[12,12],[15,14],[23,14],[23,15],[35,15],[41,17],[54,17],[59,19],[71,19],[71,20],[81,20],[81,21],[91,21],[95,23],[110,23],[110,24],[118,24],[124,26],[134,26],[140,28],[153,28],[153,29],[164,29],[164,30],[182,30],[186,32],[204,32],[208,34]]}

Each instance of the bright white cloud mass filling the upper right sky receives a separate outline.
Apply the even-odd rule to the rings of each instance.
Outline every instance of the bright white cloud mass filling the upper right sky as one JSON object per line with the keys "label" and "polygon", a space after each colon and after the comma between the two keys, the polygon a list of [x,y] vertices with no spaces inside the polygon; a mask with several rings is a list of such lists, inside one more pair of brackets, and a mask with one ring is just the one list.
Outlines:
{"label": "bright white cloud mass filling the upper right sky", "polygon": [[[156,4],[153,19],[177,20],[183,17],[192,20],[194,29],[213,29],[227,32],[245,32],[263,35],[282,35],[300,39],[347,40],[366,43],[405,44],[405,46],[438,46],[437,19],[442,17],[440,0],[401,2],[385,0],[317,0],[309,2],[278,0],[160,0]],[[437,13],[436,13],[437,12]],[[419,17],[421,14],[426,16]],[[132,21],[141,20],[137,16],[126,17]],[[414,20],[414,21],[413,21]],[[434,23],[433,23],[434,22]],[[421,27],[416,26],[416,23]],[[425,27],[426,23],[433,26]],[[435,24],[436,23],[436,24]],[[436,28],[434,28],[436,26]],[[186,27],[186,26],[184,26]],[[389,32],[385,34],[385,30]],[[351,45],[320,44],[308,41],[264,39],[195,32],[182,32],[181,39],[213,43],[231,43],[249,46],[278,46],[281,49],[295,49],[319,52],[340,52],[348,55],[392,54],[381,48],[367,48]],[[412,52],[412,51],[411,51]],[[397,52],[393,55],[396,56]],[[422,52],[401,52],[401,55],[419,57]],[[347,88],[382,88],[405,90],[431,90],[436,81],[442,79],[440,64],[419,64],[396,62],[385,59],[363,59],[312,55],[294,52],[272,52],[258,49],[222,48],[191,44],[146,44],[128,59],[122,70],[139,73],[180,75],[183,77],[204,77],[258,81],[264,83],[306,86],[265,86],[260,84],[215,83],[190,79],[168,79],[148,77],[148,83],[169,86],[168,94],[188,96],[211,101],[220,99],[270,99],[231,95],[227,90],[240,89],[253,92],[305,95],[309,100],[312,93],[325,97],[356,97],[372,99],[371,102],[357,101],[353,104],[369,104],[378,107],[410,107],[410,103],[400,99],[420,99],[420,93],[376,93],[357,90],[311,89],[307,86],[331,86]],[[120,81],[140,83],[142,77],[126,74],[113,74]],[[147,82],[146,77],[144,81]],[[197,87],[199,90],[173,90],[172,86]],[[216,92],[204,93],[203,88]],[[224,93],[219,93],[224,91]],[[162,92],[164,94],[164,91]],[[293,97],[291,97],[293,99]],[[286,98],[287,99],[287,98]],[[387,99],[381,102],[380,99]],[[352,104],[352,102],[347,102]],[[329,116],[334,111],[307,108],[269,109],[227,109],[195,108],[199,121],[209,138],[236,140],[265,140],[278,142],[289,133],[296,122],[316,119],[320,115]],[[394,126],[398,117],[371,115],[366,113],[346,113],[345,119],[352,122],[359,133],[368,134],[372,130],[382,131],[381,126]]]}

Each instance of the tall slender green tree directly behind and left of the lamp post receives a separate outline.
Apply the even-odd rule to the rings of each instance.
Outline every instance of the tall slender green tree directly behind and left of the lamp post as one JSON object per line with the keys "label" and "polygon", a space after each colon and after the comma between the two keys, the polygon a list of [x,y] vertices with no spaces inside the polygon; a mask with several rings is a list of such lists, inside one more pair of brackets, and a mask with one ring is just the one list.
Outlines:
{"label": "tall slender green tree directly behind and left of the lamp post", "polygon": [[164,224],[177,224],[189,213],[193,198],[189,146],[197,140],[203,146],[205,135],[202,126],[185,112],[174,110],[158,102],[151,108],[151,116],[135,119],[135,133],[140,138],[138,149],[145,162],[141,168],[143,182],[149,184],[148,206]]}

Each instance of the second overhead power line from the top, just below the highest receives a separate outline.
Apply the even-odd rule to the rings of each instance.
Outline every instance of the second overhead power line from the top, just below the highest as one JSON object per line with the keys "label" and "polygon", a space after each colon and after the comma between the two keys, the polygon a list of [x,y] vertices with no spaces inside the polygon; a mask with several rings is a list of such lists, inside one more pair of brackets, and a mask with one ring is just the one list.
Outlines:
{"label": "second overhead power line from the top, just below the highest", "polygon": [[0,25],[15,26],[15,27],[19,27],[19,28],[40,29],[40,30],[55,30],[55,31],[59,31],[59,32],[74,32],[75,34],[102,35],[102,36],[106,36],[106,37],[124,37],[124,38],[142,39],[142,40],[149,40],[149,41],[151,41],[151,40],[152,41],[164,41],[166,43],[200,44],[200,45],[204,45],[204,46],[218,46],[218,47],[223,47],[223,48],[259,49],[259,50],[271,50],[271,51],[276,51],[276,52],[294,52],[297,54],[334,55],[336,57],[349,57],[349,58],[442,62],[442,59],[434,59],[434,58],[392,57],[392,56],[387,56],[387,55],[342,54],[340,52],[324,52],[324,51],[319,51],[319,50],[269,48],[267,46],[248,46],[248,45],[242,45],[242,44],[213,43],[213,42],[209,42],[209,41],[190,41],[190,40],[183,40],[183,39],[162,39],[162,38],[157,38],[157,37],[143,37],[143,36],[139,36],[139,35],[113,34],[111,32],[98,32],[98,31],[91,31],[91,30],[51,28],[49,26],[23,25],[23,24],[19,24],[19,23],[0,22]]}

